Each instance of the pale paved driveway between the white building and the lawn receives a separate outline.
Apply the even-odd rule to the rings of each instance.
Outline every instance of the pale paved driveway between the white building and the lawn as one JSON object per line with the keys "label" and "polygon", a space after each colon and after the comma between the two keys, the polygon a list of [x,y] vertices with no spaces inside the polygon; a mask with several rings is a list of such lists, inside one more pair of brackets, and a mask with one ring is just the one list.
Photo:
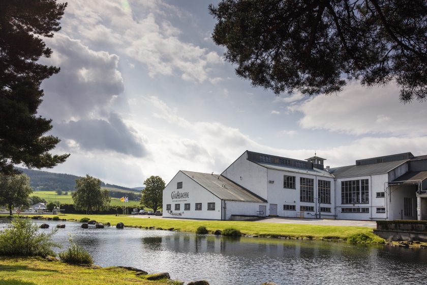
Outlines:
{"label": "pale paved driveway between the white building and the lawn", "polygon": [[[161,219],[162,216],[147,216],[147,215],[134,215],[135,218],[142,219]],[[190,220],[180,219],[179,220]],[[282,217],[267,217],[265,219],[256,220],[254,222],[267,222],[267,223],[296,223],[296,224],[318,224],[318,225],[352,225],[352,226],[368,226],[376,227],[375,221],[358,221],[358,220],[329,220],[329,219],[301,219],[301,218],[282,218]]]}

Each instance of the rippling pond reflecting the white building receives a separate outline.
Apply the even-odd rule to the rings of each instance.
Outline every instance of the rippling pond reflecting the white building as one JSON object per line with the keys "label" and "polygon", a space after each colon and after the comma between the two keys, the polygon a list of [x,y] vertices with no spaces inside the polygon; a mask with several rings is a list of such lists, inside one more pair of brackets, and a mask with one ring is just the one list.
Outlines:
{"label": "rippling pond reflecting the white building", "polygon": [[[37,221],[37,223],[42,223]],[[58,222],[47,221],[51,227]],[[64,222],[62,222],[64,223]],[[0,224],[0,227],[6,223]],[[41,230],[51,231],[51,230]],[[357,246],[347,243],[266,238],[225,238],[114,226],[81,229],[66,222],[54,240],[68,234],[100,266],[133,266],[169,272],[182,281],[210,284],[422,284],[427,249]]]}

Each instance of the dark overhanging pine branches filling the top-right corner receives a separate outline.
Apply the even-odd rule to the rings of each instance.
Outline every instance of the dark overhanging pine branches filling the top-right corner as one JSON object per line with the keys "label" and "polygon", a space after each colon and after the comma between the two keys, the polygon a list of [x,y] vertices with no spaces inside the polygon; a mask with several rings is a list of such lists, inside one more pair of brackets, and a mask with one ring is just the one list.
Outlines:
{"label": "dark overhanging pine branches filling the top-right corner", "polygon": [[237,75],[276,94],[332,94],[356,79],[427,99],[425,0],[223,0],[212,34]]}

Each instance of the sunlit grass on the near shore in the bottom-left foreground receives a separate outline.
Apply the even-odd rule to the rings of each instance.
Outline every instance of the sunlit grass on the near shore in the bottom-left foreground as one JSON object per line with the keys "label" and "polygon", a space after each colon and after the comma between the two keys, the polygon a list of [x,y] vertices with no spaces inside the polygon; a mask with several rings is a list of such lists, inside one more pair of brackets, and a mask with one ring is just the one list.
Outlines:
{"label": "sunlit grass on the near shore in the bottom-left foreground", "polygon": [[[141,268],[143,269],[143,268]],[[147,275],[148,276],[148,275]],[[42,258],[0,258],[2,285],[104,285],[167,284],[167,280],[149,281],[134,271],[117,267],[91,269]]]}

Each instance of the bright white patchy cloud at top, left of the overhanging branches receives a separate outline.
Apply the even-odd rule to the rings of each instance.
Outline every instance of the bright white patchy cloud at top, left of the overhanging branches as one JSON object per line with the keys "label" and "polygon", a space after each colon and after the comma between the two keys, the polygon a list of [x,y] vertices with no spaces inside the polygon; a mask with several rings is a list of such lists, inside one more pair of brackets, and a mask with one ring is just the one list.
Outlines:
{"label": "bright white patchy cloud at top, left of the overhanging branches", "polygon": [[[204,82],[211,66],[223,64],[220,55],[178,37],[181,31],[168,20],[184,15],[161,1],[120,5],[116,1],[72,1],[63,20],[64,31],[91,45],[124,52],[146,65],[148,75],[179,75]],[[166,13],[170,11],[170,15]]]}

